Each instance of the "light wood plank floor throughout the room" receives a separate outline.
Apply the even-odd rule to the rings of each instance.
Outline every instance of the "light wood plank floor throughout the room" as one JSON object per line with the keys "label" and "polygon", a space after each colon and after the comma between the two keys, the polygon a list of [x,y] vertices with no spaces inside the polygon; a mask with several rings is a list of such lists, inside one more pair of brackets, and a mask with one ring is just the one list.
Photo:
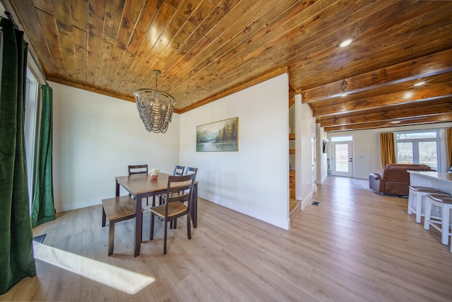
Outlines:
{"label": "light wood plank floor throughout the room", "polygon": [[[64,212],[34,230],[47,233],[35,245],[37,277],[0,301],[452,301],[452,254],[436,230],[406,213],[407,199],[329,177],[312,200],[319,205],[309,203],[285,231],[200,199],[192,239],[179,219],[165,256],[161,223],[148,240],[148,211],[139,257],[133,219],[117,223],[107,257],[100,206]],[[45,255],[59,264],[39,260]],[[119,268],[155,281],[127,294],[144,281]]]}

